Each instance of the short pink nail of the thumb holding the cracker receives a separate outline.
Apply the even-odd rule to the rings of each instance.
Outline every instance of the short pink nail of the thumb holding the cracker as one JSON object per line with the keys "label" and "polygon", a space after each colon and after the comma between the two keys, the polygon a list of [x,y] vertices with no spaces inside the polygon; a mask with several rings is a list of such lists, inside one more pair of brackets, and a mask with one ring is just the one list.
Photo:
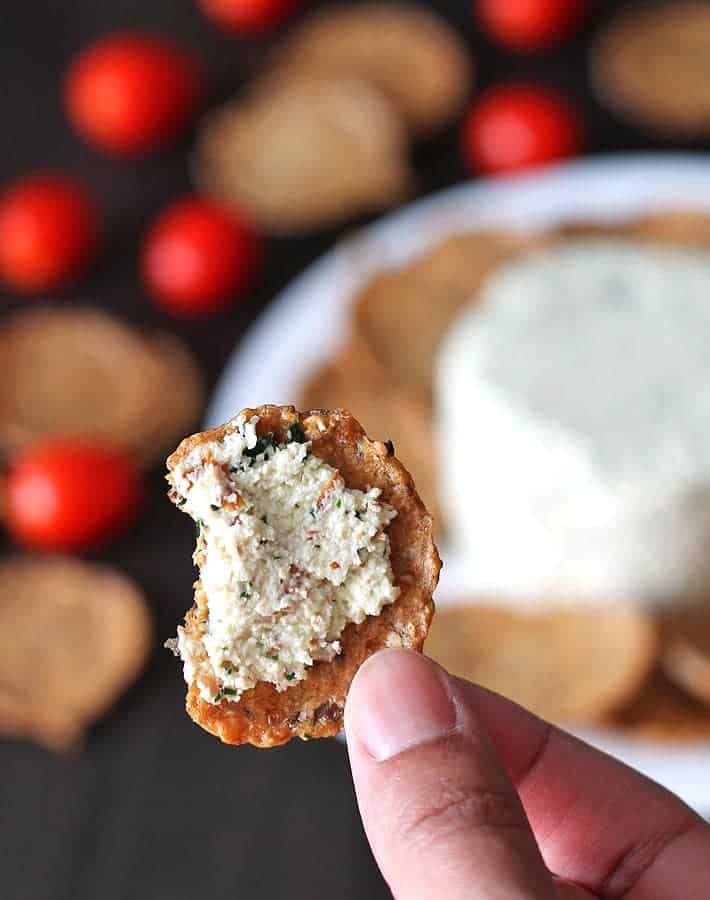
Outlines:
{"label": "short pink nail of the thumb holding the cracker", "polygon": [[350,687],[345,729],[383,762],[450,734],[456,707],[444,676],[426,657],[383,650],[370,657]]}

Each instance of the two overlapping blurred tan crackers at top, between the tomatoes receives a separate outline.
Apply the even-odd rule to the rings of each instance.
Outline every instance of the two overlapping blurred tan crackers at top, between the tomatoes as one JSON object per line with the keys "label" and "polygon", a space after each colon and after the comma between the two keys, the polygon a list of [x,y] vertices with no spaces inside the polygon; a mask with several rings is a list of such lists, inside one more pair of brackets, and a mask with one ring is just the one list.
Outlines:
{"label": "two overlapping blurred tan crackers at top, between the tomatoes", "polygon": [[196,180],[274,233],[383,209],[414,186],[410,141],[456,116],[472,81],[460,37],[423,7],[327,7],[204,123]]}

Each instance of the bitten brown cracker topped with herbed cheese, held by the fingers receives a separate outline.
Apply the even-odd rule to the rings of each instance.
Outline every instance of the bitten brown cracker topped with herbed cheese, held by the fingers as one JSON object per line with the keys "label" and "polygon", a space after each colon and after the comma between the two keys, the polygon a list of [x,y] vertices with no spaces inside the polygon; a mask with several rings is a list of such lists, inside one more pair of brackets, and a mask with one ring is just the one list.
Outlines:
{"label": "bitten brown cracker topped with herbed cheese, held by the fingers", "polygon": [[343,410],[243,410],[168,459],[200,581],[175,643],[187,711],[228,744],[329,737],[383,647],[421,650],[441,566],[391,447]]}

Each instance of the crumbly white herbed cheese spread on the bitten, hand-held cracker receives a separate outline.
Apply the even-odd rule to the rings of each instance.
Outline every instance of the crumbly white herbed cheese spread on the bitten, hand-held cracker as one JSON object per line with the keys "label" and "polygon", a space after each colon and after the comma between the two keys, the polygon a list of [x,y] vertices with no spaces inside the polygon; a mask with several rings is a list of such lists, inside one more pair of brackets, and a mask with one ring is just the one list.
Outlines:
{"label": "crumbly white herbed cheese spread on the bitten, hand-held cracker", "polygon": [[260,681],[279,691],[332,660],[347,624],[399,593],[380,491],[345,486],[314,456],[298,422],[289,441],[258,437],[237,417],[170,473],[173,499],[199,529],[194,560],[209,614],[196,638],[178,629],[185,680],[210,703]]}

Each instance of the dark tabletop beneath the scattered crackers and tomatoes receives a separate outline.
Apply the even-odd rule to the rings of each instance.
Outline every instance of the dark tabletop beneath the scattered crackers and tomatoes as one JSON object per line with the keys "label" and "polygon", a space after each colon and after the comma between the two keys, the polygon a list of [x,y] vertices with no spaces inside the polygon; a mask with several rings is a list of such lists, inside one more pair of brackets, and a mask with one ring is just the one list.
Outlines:
{"label": "dark tabletop beneath the scattered crackers and tomatoes", "polygon": [[[479,86],[524,77],[577,100],[590,152],[669,146],[605,113],[590,95],[589,38],[622,3],[598,3],[574,42],[527,57],[488,44],[476,32],[470,0],[430,5],[470,43]],[[75,139],[59,103],[72,54],[124,27],[191,46],[204,61],[211,104],[258,70],[274,40],[220,35],[192,0],[0,0],[0,182],[37,168],[78,174],[103,206],[108,233],[92,275],[61,302],[89,301],[172,328],[194,348],[212,385],[258,311],[342,232],[272,241],[257,289],[223,316],[181,323],[155,311],[141,292],[136,254],[151,215],[190,187],[191,136],[148,162],[110,161]],[[415,162],[421,193],[467,177],[455,128],[419,146]],[[0,295],[0,314],[17,305]],[[143,585],[160,640],[175,633],[193,580],[192,528],[164,492],[156,471],[138,526],[101,554]],[[91,732],[82,753],[61,758],[0,742],[2,900],[389,896],[362,834],[342,746],[225,747],[188,720],[183,696],[177,662],[156,643],[140,684]]]}

